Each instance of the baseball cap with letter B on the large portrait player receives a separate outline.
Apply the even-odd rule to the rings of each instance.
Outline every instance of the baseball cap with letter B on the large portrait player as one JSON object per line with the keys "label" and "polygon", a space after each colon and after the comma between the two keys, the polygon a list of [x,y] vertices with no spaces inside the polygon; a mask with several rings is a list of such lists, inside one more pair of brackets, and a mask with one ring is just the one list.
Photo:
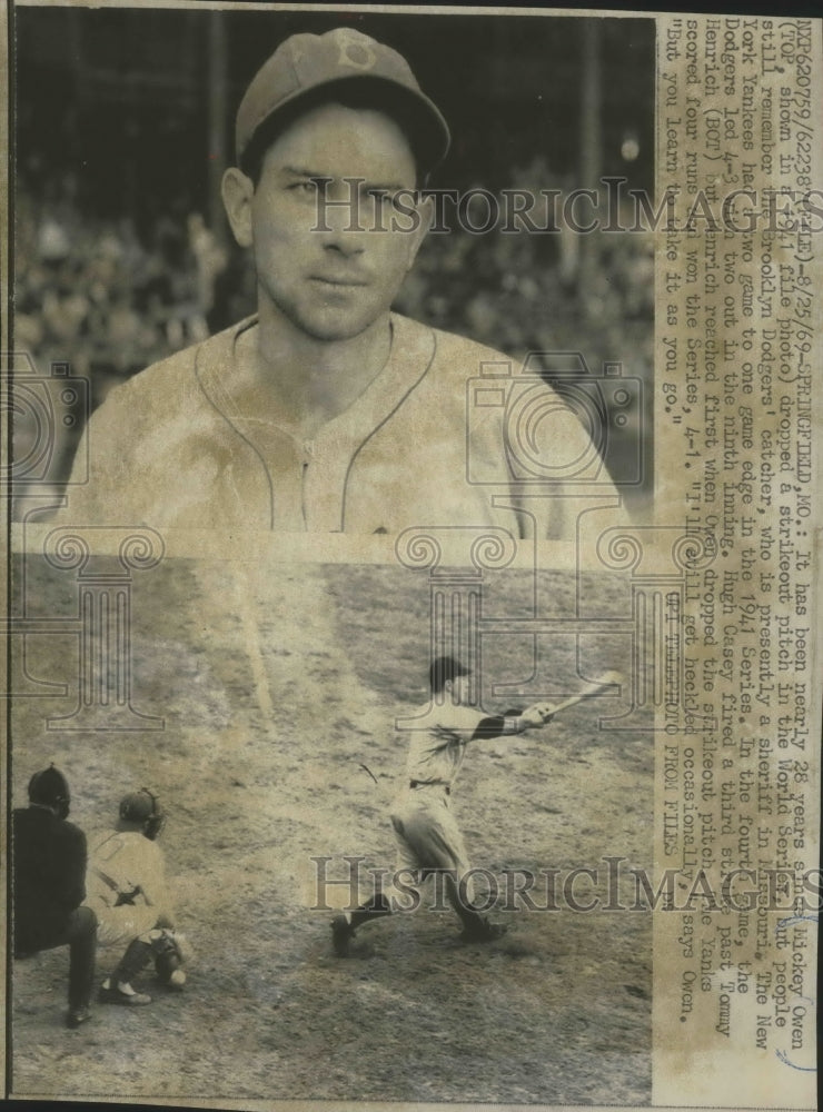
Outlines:
{"label": "baseball cap with letter B on the large portrait player", "polygon": [[246,168],[275,120],[290,121],[298,111],[333,99],[335,92],[356,90],[366,98],[364,107],[397,118],[423,172],[445,157],[448,125],[406,59],[368,34],[338,27],[325,34],[292,34],[251,79],[237,110],[237,165]]}

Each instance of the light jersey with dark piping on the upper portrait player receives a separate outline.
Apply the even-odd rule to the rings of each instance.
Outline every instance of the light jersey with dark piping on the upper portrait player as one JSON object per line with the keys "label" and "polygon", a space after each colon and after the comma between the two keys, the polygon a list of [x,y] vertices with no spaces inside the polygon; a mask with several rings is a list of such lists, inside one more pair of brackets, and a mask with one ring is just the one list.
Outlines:
{"label": "light jersey with dark piping on the upper portrait player", "polygon": [[[311,441],[295,437],[274,401],[262,411],[259,394],[254,405],[240,394],[240,344],[254,341],[255,317],[135,376],[91,417],[59,524],[356,534],[500,526],[573,539],[574,499],[586,493],[589,508],[612,507],[612,524],[617,493],[548,386],[533,378],[534,396],[517,393],[509,428],[506,403],[522,386],[512,360],[390,319],[386,366]],[[538,418],[552,430],[548,455],[571,461],[553,473],[551,500],[534,497],[545,476],[522,458]]]}

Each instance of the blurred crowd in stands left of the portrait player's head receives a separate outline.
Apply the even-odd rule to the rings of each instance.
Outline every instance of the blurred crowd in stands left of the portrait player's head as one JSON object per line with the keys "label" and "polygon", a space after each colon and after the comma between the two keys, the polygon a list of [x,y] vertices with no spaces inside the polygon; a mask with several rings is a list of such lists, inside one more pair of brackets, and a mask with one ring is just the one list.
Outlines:
{"label": "blurred crowd in stands left of the portrait player's head", "polygon": [[44,369],[68,360],[102,400],[117,379],[210,334],[227,252],[200,214],[138,234],[122,215],[83,214],[67,191],[16,207],[16,346]]}

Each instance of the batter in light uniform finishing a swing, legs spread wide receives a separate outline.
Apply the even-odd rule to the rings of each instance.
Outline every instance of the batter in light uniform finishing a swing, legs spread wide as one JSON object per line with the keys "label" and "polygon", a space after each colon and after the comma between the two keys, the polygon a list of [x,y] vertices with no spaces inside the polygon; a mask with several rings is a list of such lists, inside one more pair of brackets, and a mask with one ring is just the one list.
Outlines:
{"label": "batter in light uniform finishing a swing, legs spread wide", "polygon": [[472,866],[452,811],[452,790],[469,743],[539,729],[552,721],[554,708],[535,703],[523,712],[485,715],[469,703],[469,668],[452,656],[432,663],[432,703],[420,708],[424,717],[412,732],[404,784],[390,811],[397,841],[395,876],[403,877],[403,884],[391,883],[354,911],[335,915],[331,943],[338,957],[348,956],[358,927],[390,914],[401,902],[407,905],[408,888],[435,873],[444,878],[448,902],[463,924],[464,942],[492,942],[505,932],[475,907]]}

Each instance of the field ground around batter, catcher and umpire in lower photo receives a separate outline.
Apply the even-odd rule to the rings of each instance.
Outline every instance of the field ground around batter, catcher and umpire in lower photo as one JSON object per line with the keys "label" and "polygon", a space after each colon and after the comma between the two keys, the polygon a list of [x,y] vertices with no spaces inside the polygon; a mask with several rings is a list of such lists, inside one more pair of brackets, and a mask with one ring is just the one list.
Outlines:
{"label": "field ground around batter, catcher and umpire in lower photo", "polygon": [[[71,575],[29,558],[27,576],[39,613],[70,616]],[[613,580],[584,586],[604,617],[625,615]],[[527,576],[500,574],[484,605],[516,617],[531,589]],[[538,590],[571,613],[571,576],[546,574]],[[27,645],[29,676],[66,682],[71,695],[73,635]],[[553,691],[625,666],[607,634],[582,645],[502,634],[484,641],[484,691],[486,678],[527,678],[535,645]],[[72,786],[72,820],[92,832],[113,821],[123,792],[159,793],[195,951],[189,984],[172,995],[147,976],[150,1007],[101,1005],[70,1032],[67,953],[14,963],[14,1095],[650,1102],[647,913],[497,909],[508,933],[482,947],[458,941],[449,912],[420,911],[363,930],[340,961],[330,912],[311,910],[313,856],[331,857],[330,871],[344,854],[394,864],[386,810],[405,752],[393,724],[425,697],[425,575],[167,560],[136,577],[132,657],[135,705],[163,715],[165,729],[47,731],[70,695],[18,699],[13,797],[22,804],[31,772],[53,759]],[[625,705],[583,704],[541,733],[469,752],[454,804],[477,865],[563,872],[608,854],[650,866],[652,735],[597,725]],[[115,956],[100,953],[100,973]]]}

